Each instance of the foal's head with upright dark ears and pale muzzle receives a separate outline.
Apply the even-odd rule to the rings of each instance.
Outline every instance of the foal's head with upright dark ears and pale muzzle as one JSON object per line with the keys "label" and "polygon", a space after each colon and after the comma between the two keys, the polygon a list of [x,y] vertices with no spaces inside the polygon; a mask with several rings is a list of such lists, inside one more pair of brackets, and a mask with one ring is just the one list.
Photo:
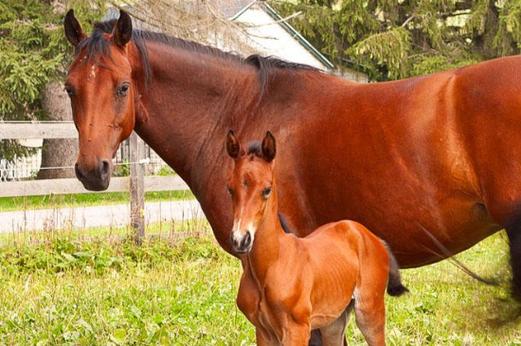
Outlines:
{"label": "foal's head with upright dark ears and pale muzzle", "polygon": [[238,253],[252,249],[255,232],[272,198],[275,138],[267,132],[262,143],[253,143],[244,151],[233,131],[226,138],[226,150],[234,159],[228,180],[233,204],[232,248]]}

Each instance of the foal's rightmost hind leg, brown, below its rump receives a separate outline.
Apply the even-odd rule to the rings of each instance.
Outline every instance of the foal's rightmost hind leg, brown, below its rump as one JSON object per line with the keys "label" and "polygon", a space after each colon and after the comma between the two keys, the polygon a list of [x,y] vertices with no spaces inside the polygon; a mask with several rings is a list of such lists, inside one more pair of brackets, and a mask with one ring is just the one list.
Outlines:
{"label": "foal's rightmost hind leg, brown, below its rump", "polygon": [[385,345],[384,292],[366,287],[365,292],[355,293],[356,324],[369,346]]}

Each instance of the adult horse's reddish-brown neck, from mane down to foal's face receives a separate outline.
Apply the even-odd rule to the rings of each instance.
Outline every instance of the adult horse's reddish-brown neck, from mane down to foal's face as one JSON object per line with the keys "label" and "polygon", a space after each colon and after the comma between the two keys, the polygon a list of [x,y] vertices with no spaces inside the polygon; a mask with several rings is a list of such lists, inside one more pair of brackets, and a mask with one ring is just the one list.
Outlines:
{"label": "adult horse's reddish-brown neck, from mane down to foal's face", "polygon": [[255,69],[156,43],[147,47],[152,78],[141,94],[149,118],[136,131],[186,181],[212,228],[222,232],[229,201],[213,186],[225,191],[224,140],[246,121],[239,115],[258,93]]}

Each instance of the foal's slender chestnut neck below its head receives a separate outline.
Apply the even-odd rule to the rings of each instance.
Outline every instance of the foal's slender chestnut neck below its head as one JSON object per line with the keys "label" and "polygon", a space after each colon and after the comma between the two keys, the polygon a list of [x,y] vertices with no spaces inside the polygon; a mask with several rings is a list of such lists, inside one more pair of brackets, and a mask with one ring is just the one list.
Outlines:
{"label": "foal's slender chestnut neck below its head", "polygon": [[264,218],[255,232],[253,248],[248,254],[250,270],[260,287],[264,286],[267,271],[280,259],[281,252],[289,250],[285,246],[289,238],[284,234],[278,217],[275,189],[273,192],[275,194],[266,206]]}

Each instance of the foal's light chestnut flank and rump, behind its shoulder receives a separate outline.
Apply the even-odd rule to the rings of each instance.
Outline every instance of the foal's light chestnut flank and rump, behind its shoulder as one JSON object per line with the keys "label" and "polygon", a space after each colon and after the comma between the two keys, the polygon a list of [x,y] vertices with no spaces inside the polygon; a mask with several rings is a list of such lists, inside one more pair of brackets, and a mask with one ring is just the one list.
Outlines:
{"label": "foal's light chestnut flank and rump, behind its shoulder", "polygon": [[328,223],[298,241],[309,253],[314,328],[330,322],[328,316],[339,316],[353,297],[355,304],[363,296],[383,301],[389,256],[382,241],[363,225],[346,220]]}

